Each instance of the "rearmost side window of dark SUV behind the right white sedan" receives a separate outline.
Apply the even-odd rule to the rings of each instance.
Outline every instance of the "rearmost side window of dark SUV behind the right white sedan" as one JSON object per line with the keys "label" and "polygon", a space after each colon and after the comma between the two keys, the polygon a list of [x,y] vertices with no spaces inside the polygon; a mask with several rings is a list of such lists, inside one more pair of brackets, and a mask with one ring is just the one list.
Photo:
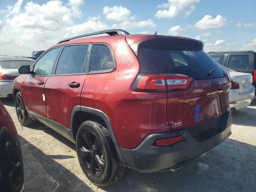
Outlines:
{"label": "rearmost side window of dark SUV behind the right white sedan", "polygon": [[249,56],[248,55],[230,55],[228,61],[229,68],[248,68]]}

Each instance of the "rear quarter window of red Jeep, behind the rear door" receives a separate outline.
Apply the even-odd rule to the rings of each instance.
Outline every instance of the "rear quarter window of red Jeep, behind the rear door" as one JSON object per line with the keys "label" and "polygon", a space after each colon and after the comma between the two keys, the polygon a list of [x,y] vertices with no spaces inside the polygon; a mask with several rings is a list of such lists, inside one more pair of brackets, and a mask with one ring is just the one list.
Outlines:
{"label": "rear quarter window of red Jeep, behind the rear door", "polygon": [[112,54],[106,45],[93,45],[90,59],[90,71],[114,69]]}

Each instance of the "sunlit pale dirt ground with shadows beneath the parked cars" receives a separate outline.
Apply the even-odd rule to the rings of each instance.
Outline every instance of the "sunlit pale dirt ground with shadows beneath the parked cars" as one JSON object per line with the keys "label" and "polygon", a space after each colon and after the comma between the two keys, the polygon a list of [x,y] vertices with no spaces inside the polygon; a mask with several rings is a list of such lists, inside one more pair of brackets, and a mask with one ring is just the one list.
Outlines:
{"label": "sunlit pale dirt ground with shadows beneath the parked cars", "polygon": [[232,114],[232,135],[176,172],[142,174],[126,169],[115,184],[98,188],[84,176],[75,144],[46,126],[20,126],[11,99],[2,99],[22,145],[26,192],[256,191],[256,100]]}

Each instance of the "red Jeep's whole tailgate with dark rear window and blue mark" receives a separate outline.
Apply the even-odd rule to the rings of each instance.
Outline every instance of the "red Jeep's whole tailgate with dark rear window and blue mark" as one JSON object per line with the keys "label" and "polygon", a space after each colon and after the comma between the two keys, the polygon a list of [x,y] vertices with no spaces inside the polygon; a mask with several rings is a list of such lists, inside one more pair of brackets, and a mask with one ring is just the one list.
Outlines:
{"label": "red Jeep's whole tailgate with dark rear window and blue mark", "polygon": [[224,70],[202,50],[202,42],[161,38],[138,46],[141,73],[178,74],[191,78],[186,89],[168,90],[167,117],[171,130],[186,128],[229,109],[230,82]]}

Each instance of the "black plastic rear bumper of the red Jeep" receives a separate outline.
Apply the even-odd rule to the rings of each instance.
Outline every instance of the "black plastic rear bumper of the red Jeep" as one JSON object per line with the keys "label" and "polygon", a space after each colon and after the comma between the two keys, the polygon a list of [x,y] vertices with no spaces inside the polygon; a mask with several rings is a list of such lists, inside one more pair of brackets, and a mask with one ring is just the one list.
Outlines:
{"label": "black plastic rear bumper of the red Jeep", "polygon": [[[139,172],[158,172],[172,168],[187,160],[192,160],[214,148],[230,136],[232,125],[231,111],[228,110],[222,116],[204,122],[199,127],[204,128],[212,125],[216,126],[216,129],[204,135],[200,135],[198,130],[193,132],[196,126],[151,134],[135,149],[121,148],[122,163],[124,166]],[[156,139],[177,135],[182,135],[184,140],[164,147],[153,145]]]}

